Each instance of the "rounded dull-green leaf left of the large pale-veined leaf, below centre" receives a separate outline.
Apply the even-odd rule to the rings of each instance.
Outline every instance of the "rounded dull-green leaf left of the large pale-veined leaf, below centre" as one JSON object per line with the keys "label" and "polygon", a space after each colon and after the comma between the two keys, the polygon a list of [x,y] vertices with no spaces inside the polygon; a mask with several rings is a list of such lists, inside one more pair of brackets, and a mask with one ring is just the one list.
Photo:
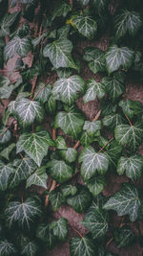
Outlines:
{"label": "rounded dull-green leaf left of the large pale-veined leaf, below centre", "polygon": [[47,167],[49,168],[49,174],[58,183],[63,183],[72,177],[72,167],[67,165],[64,161],[51,160]]}

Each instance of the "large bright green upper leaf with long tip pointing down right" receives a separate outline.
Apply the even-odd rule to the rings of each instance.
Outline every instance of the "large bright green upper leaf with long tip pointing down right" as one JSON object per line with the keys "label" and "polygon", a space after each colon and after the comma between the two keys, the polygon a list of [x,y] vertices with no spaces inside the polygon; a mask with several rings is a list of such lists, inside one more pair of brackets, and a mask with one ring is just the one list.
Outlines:
{"label": "large bright green upper leaf with long tip pointing down right", "polygon": [[43,56],[50,58],[55,68],[71,67],[76,69],[72,60],[72,42],[67,38],[59,38],[45,46]]}

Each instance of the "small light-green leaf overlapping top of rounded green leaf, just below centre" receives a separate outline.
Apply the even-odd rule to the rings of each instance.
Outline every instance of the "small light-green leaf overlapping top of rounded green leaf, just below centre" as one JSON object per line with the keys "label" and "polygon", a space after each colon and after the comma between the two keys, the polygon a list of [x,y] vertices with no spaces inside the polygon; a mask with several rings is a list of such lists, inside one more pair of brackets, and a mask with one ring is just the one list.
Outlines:
{"label": "small light-green leaf overlapping top of rounded green leaf, just below centre", "polygon": [[67,163],[74,162],[77,157],[77,151],[73,148],[68,148],[67,150],[60,151],[59,153]]}

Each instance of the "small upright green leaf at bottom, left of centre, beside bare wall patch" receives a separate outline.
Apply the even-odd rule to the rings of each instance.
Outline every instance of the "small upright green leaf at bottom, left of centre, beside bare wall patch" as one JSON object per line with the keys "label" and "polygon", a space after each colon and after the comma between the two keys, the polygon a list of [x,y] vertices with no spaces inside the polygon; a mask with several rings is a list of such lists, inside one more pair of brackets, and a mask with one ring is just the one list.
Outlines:
{"label": "small upright green leaf at bottom, left of centre, beside bare wall patch", "polygon": [[50,228],[53,230],[53,235],[61,242],[65,242],[68,234],[67,220],[60,218],[58,221],[52,221]]}

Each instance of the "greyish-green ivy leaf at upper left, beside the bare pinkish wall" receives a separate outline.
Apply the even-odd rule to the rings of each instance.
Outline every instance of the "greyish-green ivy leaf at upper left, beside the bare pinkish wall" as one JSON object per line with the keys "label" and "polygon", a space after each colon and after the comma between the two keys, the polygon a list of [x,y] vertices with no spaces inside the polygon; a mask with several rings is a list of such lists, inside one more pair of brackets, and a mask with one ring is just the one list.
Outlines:
{"label": "greyish-green ivy leaf at upper left, beside the bare pinkish wall", "polygon": [[14,36],[4,48],[4,59],[7,62],[14,54],[24,58],[31,51],[31,40],[29,38],[20,38]]}

